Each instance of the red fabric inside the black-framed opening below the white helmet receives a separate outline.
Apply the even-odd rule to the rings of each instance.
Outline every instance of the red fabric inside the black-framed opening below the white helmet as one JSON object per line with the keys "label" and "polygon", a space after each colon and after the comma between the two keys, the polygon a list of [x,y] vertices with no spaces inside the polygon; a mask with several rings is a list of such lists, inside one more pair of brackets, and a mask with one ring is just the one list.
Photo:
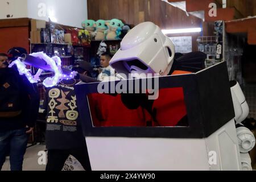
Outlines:
{"label": "red fabric inside the black-framed opening below the white helmet", "polygon": [[[191,72],[175,71],[173,75]],[[159,98],[152,105],[152,112],[156,113],[154,119],[146,109],[129,110],[122,103],[121,95],[90,94],[89,105],[93,125],[100,126],[176,126],[187,115],[183,88],[168,88],[159,90]]]}

